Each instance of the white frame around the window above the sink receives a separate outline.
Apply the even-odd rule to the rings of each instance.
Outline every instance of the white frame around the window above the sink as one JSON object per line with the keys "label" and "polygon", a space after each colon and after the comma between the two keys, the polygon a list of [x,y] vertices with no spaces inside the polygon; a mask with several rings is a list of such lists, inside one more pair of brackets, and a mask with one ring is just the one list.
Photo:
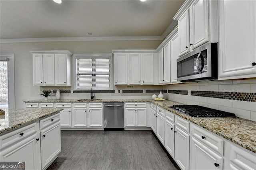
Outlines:
{"label": "white frame around the window above the sink", "polygon": [[96,90],[113,90],[113,54],[112,53],[88,53],[88,54],[74,54],[73,55],[73,81],[74,90],[90,90],[76,88],[76,59],[110,59],[110,89],[96,89]]}

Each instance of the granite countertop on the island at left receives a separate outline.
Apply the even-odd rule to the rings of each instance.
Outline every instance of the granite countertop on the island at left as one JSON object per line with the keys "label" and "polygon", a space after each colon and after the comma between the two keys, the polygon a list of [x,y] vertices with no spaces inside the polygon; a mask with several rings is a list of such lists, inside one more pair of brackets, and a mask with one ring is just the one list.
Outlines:
{"label": "granite countertop on the island at left", "polygon": [[44,117],[54,115],[63,109],[4,109],[5,115],[0,116],[0,135],[28,125]]}

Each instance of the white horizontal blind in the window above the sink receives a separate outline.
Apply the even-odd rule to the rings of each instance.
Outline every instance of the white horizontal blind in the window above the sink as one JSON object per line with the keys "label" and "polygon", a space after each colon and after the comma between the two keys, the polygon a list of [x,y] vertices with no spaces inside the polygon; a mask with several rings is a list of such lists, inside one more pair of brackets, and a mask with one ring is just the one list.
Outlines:
{"label": "white horizontal blind in the window above the sink", "polygon": [[76,59],[76,89],[110,89],[110,59]]}

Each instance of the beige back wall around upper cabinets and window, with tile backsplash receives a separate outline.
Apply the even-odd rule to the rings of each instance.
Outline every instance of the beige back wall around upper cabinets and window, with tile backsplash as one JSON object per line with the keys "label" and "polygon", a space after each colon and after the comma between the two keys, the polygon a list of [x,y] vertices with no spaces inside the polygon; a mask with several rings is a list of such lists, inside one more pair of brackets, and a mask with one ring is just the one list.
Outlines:
{"label": "beige back wall around upper cabinets and window, with tile backsplash", "polygon": [[[24,108],[23,101],[40,99],[40,87],[33,86],[32,55],[29,51],[36,50],[69,50],[72,53],[112,53],[112,49],[156,49],[162,41],[79,41],[79,42],[32,42],[32,43],[0,43],[0,53],[14,53],[15,105]],[[119,87],[120,89],[126,87]],[[129,89],[141,87],[133,87]],[[149,88],[149,87],[147,87]],[[162,87],[150,87],[150,89]],[[66,88],[64,88],[66,89]],[[68,88],[72,89],[72,87]],[[118,88],[116,88],[118,89]],[[145,88],[142,88],[145,89]],[[132,94],[132,95],[131,95]],[[137,93],[127,94],[134,98]],[[67,96],[67,94],[65,94]],[[65,96],[63,95],[63,97]],[[70,94],[71,97],[88,97],[90,94]],[[98,94],[99,95],[99,94]],[[102,94],[102,97],[126,94]],[[150,97],[151,93],[139,93],[141,97]],[[97,94],[96,94],[97,97]],[[100,96],[98,96],[100,97]]]}

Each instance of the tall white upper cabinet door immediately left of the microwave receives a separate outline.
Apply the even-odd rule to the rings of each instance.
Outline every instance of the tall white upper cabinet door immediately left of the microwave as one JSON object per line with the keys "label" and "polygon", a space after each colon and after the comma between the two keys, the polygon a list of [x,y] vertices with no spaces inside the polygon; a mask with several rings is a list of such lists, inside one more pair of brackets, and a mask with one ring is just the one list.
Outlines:
{"label": "tall white upper cabinet door immediately left of the microwave", "polygon": [[170,40],[171,51],[171,83],[180,83],[177,81],[177,59],[179,57],[180,42],[178,32]]}

